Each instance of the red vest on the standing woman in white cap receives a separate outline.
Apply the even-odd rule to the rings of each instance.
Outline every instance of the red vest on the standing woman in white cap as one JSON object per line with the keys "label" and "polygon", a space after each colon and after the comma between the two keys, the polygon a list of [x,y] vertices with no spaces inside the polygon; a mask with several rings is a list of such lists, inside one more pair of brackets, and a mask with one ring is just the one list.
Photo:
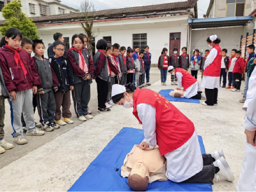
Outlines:
{"label": "red vest on the standing woman in white cap", "polygon": [[[211,65],[209,65],[208,67],[205,68],[204,76],[220,77],[221,60],[222,60],[221,48],[220,48],[219,44],[214,45],[213,48],[215,48],[218,51],[218,53],[217,53],[217,56],[214,59],[214,61],[211,63]],[[212,51],[212,49],[211,49],[211,51]]]}

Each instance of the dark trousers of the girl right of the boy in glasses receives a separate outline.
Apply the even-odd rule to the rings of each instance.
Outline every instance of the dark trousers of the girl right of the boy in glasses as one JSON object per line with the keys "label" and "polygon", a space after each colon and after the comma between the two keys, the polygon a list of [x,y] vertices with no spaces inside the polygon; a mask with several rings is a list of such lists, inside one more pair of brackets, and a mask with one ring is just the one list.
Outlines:
{"label": "dark trousers of the girl right of the boy in glasses", "polygon": [[82,80],[82,82],[76,83],[72,91],[72,97],[77,118],[88,115],[88,104],[91,99],[91,85],[89,81]]}

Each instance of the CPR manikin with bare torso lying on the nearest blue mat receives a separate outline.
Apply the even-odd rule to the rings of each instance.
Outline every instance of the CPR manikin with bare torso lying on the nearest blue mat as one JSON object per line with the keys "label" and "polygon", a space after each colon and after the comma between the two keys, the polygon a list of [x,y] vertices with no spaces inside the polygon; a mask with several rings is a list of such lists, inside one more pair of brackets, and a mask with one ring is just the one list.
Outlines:
{"label": "CPR manikin with bare torso lying on the nearest blue mat", "polygon": [[158,146],[153,150],[142,150],[134,145],[121,168],[122,177],[128,177],[128,184],[134,191],[145,191],[148,183],[156,180],[168,180],[165,172],[166,159],[161,156]]}

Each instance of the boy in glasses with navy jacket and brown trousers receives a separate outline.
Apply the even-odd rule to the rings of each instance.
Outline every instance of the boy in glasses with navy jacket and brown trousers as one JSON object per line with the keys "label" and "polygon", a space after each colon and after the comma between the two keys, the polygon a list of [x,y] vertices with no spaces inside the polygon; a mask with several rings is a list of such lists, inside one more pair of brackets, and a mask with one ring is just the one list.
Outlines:
{"label": "boy in glasses with navy jacket and brown trousers", "polygon": [[[73,73],[67,57],[63,56],[65,52],[65,45],[63,42],[59,40],[54,42],[53,51],[55,52],[55,56],[51,56],[49,61],[59,82],[58,91],[54,92],[56,102],[54,119],[58,125],[73,124],[74,122],[70,120],[72,114],[69,110],[71,105],[70,90],[74,90]],[[63,120],[61,118],[61,106]]]}

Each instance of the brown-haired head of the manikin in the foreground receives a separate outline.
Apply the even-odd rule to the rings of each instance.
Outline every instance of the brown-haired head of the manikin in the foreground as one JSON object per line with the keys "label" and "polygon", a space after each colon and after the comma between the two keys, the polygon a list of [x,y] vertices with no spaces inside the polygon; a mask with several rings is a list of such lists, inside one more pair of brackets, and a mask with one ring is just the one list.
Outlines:
{"label": "brown-haired head of the manikin in the foreground", "polygon": [[138,162],[132,167],[128,176],[128,185],[134,191],[146,191],[148,188],[149,168],[143,162]]}

